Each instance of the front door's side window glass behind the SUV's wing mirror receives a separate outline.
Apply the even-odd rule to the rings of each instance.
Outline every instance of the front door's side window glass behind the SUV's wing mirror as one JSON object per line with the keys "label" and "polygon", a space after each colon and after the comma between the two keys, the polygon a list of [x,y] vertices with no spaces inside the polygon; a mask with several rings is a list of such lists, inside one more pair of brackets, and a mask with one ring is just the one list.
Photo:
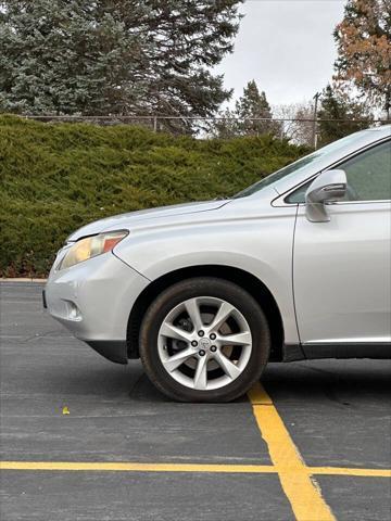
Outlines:
{"label": "front door's side window glass behind the SUV's wing mirror", "polygon": [[346,173],[349,201],[391,200],[391,141],[352,157],[338,168]]}

